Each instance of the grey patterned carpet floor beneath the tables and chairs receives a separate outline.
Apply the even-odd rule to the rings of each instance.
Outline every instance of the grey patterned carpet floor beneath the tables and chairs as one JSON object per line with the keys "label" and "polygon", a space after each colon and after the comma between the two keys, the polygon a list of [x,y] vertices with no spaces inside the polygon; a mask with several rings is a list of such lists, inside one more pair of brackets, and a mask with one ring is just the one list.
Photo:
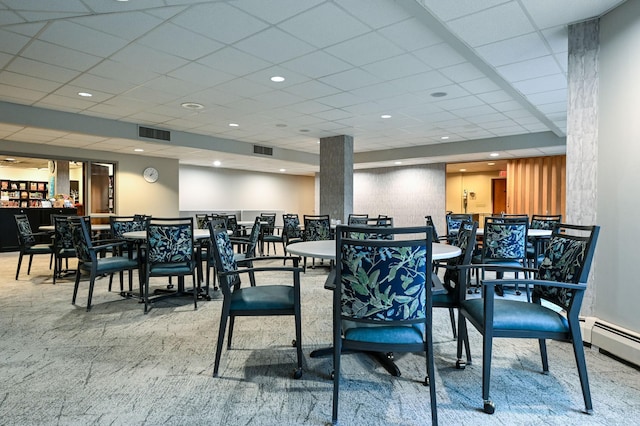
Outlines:
{"label": "grey patterned carpet floor beneath the tables and chairs", "polygon": [[[0,424],[3,425],[323,425],[331,420],[331,358],[309,352],[331,339],[327,270],[302,278],[305,371],[293,380],[292,318],[240,318],[219,378],[211,377],[220,295],[158,302],[148,314],[136,299],[96,284],[91,312],[87,283],[71,305],[72,278],[53,286],[48,258],[34,259],[14,280],[16,253],[0,253]],[[74,262],[75,265],[75,262]],[[278,277],[264,277],[273,282]],[[164,284],[162,281],[156,282]],[[216,300],[217,299],[217,300]],[[571,346],[550,342],[550,375],[538,345],[498,340],[492,398],[481,411],[481,338],[471,330],[474,364],[454,368],[448,315],[434,314],[438,414],[442,425],[617,425],[640,414],[640,372],[587,348],[595,413],[584,404]],[[363,354],[343,356],[342,425],[430,424],[429,392],[420,383],[424,357],[397,354],[391,377]]]}

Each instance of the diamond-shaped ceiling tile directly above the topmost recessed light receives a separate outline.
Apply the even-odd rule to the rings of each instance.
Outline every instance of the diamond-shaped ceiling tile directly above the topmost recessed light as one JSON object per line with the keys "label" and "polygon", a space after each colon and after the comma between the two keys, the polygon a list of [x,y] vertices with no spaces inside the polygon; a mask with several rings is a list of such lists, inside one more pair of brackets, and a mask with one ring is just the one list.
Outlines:
{"label": "diamond-shaped ceiling tile directly above the topmost recessed light", "polygon": [[[283,49],[282,46],[287,46]],[[277,28],[269,28],[235,44],[238,49],[269,61],[280,63],[315,50],[311,45]]]}

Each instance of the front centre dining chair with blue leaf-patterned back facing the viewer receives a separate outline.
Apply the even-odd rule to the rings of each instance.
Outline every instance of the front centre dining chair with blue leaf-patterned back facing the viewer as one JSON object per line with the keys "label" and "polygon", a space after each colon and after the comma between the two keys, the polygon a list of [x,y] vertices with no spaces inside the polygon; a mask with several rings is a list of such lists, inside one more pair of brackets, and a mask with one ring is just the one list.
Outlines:
{"label": "front centre dining chair with blue leaf-patterned back facing the viewer", "polygon": [[333,292],[333,410],[338,422],[340,361],[346,351],[424,352],[431,422],[438,423],[433,359],[431,243],[426,226],[365,228],[394,239],[353,239],[361,227],[336,235]]}

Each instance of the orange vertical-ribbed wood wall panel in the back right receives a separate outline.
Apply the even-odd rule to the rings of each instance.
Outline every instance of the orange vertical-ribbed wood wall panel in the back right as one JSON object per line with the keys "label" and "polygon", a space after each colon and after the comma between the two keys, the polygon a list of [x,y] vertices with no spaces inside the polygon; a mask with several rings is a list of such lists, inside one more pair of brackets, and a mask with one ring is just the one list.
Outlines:
{"label": "orange vertical-ribbed wood wall panel in the back right", "polygon": [[566,156],[507,162],[507,213],[566,215]]}

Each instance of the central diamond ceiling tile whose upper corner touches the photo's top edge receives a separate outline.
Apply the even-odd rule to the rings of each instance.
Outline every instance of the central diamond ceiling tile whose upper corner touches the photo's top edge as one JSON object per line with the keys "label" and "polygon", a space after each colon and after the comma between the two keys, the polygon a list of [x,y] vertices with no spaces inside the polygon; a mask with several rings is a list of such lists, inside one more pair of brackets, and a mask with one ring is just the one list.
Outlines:
{"label": "central diamond ceiling tile whose upper corner touches the photo's top edge", "polygon": [[329,2],[296,15],[280,23],[279,27],[318,48],[370,31],[366,25]]}

